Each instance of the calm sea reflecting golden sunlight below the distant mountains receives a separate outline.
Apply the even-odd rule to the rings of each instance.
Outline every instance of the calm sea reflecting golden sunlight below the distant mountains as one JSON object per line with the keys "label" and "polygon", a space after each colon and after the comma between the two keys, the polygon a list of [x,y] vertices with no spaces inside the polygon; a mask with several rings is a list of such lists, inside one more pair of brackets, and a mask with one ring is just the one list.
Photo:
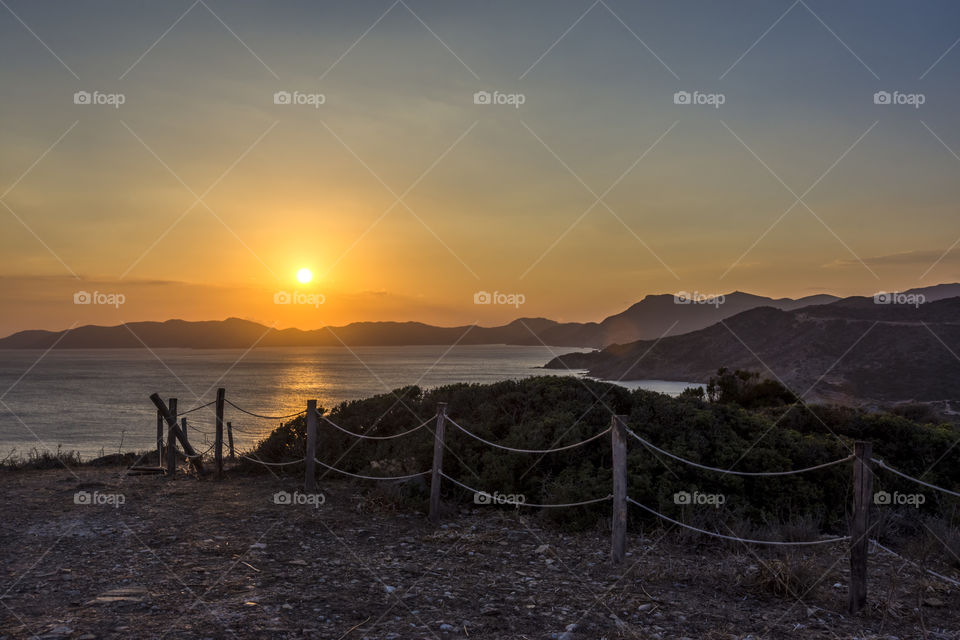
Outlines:
{"label": "calm sea reflecting golden sunlight below the distant mountains", "polygon": [[[537,375],[584,376],[543,369],[558,355],[544,346],[287,347],[242,349],[0,350],[0,459],[30,451],[76,451],[83,459],[156,446],[150,394],[177,398],[182,413],[226,389],[227,400],[264,416],[455,382],[489,383]],[[676,395],[689,382],[631,380],[625,387]],[[186,416],[191,444],[213,442],[212,407]],[[279,419],[226,406],[238,450],[250,448]],[[415,425],[411,425],[415,426]]]}

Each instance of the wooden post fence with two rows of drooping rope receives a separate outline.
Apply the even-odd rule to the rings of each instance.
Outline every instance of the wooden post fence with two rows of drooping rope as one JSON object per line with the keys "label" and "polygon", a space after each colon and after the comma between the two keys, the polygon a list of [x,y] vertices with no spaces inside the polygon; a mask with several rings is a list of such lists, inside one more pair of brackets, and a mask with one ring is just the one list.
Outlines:
{"label": "wooden post fence with two rows of drooping rope", "polygon": [[[373,480],[373,481],[404,481],[410,480],[422,476],[430,476],[430,512],[429,517],[433,523],[439,523],[440,513],[441,513],[441,500],[440,500],[440,490],[443,480],[448,480],[455,486],[458,486],[462,489],[474,493],[474,495],[484,495],[490,496],[491,494],[471,487],[463,482],[447,475],[443,471],[443,452],[445,448],[444,444],[444,432],[446,429],[447,423],[461,431],[465,435],[489,446],[499,450],[508,451],[511,453],[523,453],[523,454],[540,454],[545,455],[549,453],[557,453],[560,451],[569,451],[571,449],[576,449],[582,447],[585,444],[593,442],[607,434],[610,434],[610,444],[611,444],[611,454],[612,454],[612,466],[613,466],[613,482],[611,487],[611,493],[597,498],[591,498],[588,500],[583,500],[580,502],[573,503],[564,503],[564,504],[533,504],[526,501],[511,503],[519,507],[527,508],[540,508],[540,509],[560,509],[560,508],[569,508],[569,507],[578,507],[596,504],[600,502],[611,501],[611,540],[610,540],[610,557],[615,564],[621,564],[624,561],[626,555],[626,535],[627,535],[627,512],[628,505],[634,505],[649,513],[660,520],[669,522],[676,526],[694,531],[703,535],[712,536],[715,538],[729,540],[734,542],[740,542],[743,544],[756,544],[756,545],[768,545],[768,546],[787,546],[787,547],[796,547],[796,546],[812,546],[812,545],[823,545],[823,544],[838,544],[842,542],[849,543],[850,550],[850,585],[849,585],[849,610],[851,613],[856,613],[860,611],[865,605],[867,600],[867,558],[869,555],[869,544],[875,545],[877,549],[880,549],[886,553],[890,553],[898,558],[903,559],[905,562],[910,562],[896,554],[894,551],[884,547],[876,540],[869,538],[869,505],[870,498],[872,495],[873,487],[873,475],[874,468],[882,469],[888,471],[892,474],[899,476],[900,478],[906,479],[908,481],[917,483],[919,485],[925,486],[936,491],[943,492],[947,495],[960,498],[960,493],[956,491],[951,491],[943,487],[939,487],[928,482],[924,482],[919,478],[914,478],[906,473],[898,471],[893,467],[887,465],[880,459],[872,457],[872,446],[869,442],[856,442],[854,444],[854,451],[851,455],[845,458],[839,458],[837,460],[832,460],[830,462],[825,462],[822,464],[814,465],[811,467],[806,467],[803,469],[793,469],[793,470],[784,470],[784,471],[764,471],[764,472],[750,472],[750,471],[737,471],[734,469],[720,469],[717,467],[712,467],[708,465],[695,462],[693,460],[688,460],[679,455],[671,453],[665,449],[662,449],[652,442],[649,442],[642,436],[638,435],[631,429],[626,426],[627,416],[614,415],[611,417],[610,426],[603,431],[594,434],[580,442],[573,444],[564,445],[561,447],[555,447],[550,449],[521,449],[516,447],[508,447],[496,442],[491,442],[482,438],[481,436],[473,433],[469,429],[463,427],[452,418],[447,415],[447,405],[446,403],[439,403],[437,407],[437,413],[427,420],[421,422],[419,425],[401,433],[396,433],[386,436],[375,436],[370,434],[357,433],[346,429],[326,416],[322,415],[317,411],[317,401],[309,400],[307,401],[307,408],[303,411],[298,411],[296,413],[291,413],[288,415],[279,415],[279,416],[269,416],[254,413],[243,409],[242,407],[237,406],[233,402],[229,401],[225,397],[225,390],[220,388],[217,390],[216,400],[209,402],[198,407],[194,407],[188,411],[184,411],[181,414],[177,414],[177,400],[176,398],[171,398],[167,404],[160,399],[160,396],[153,394],[150,396],[150,399],[153,401],[154,405],[157,407],[157,453],[158,459],[160,460],[159,467],[131,467],[133,471],[152,471],[152,472],[164,472],[168,476],[173,476],[175,471],[176,464],[176,451],[175,443],[179,441],[183,447],[184,454],[186,459],[194,465],[194,467],[199,471],[203,472],[202,458],[207,454],[211,449],[215,449],[214,461],[216,466],[216,477],[219,479],[222,477],[223,473],[223,426],[224,426],[224,405],[229,404],[231,407],[240,411],[246,415],[267,419],[267,420],[287,420],[295,418],[301,415],[306,415],[306,426],[307,426],[307,438],[306,438],[306,452],[303,458],[297,460],[288,460],[283,462],[267,462],[263,460],[256,459],[254,457],[248,456],[246,454],[241,454],[239,457],[246,459],[252,463],[263,465],[265,467],[286,467],[291,465],[304,465],[304,490],[307,492],[316,491],[316,466],[319,465],[329,471],[343,474],[352,478],[358,478],[361,480]],[[187,420],[183,416],[204,409],[210,406],[215,406],[215,438],[213,444],[207,448],[206,451],[197,453],[196,450],[191,446],[188,437],[187,437]],[[177,424],[177,418],[180,418],[180,424]],[[368,476],[361,475],[357,473],[352,473],[345,471],[343,469],[338,469],[332,465],[329,465],[316,457],[316,448],[317,448],[317,427],[319,420],[323,420],[326,424],[333,427],[334,429],[345,433],[353,438],[362,439],[362,440],[391,440],[394,438],[401,438],[412,433],[419,431],[420,429],[425,428],[430,422],[436,420],[436,425],[434,429],[434,446],[433,446],[433,464],[430,469],[421,471],[419,473],[401,475],[401,476]],[[167,424],[167,445],[166,445],[166,467],[163,467],[163,423]],[[233,445],[233,427],[231,422],[227,422],[227,435],[229,439],[230,447],[230,458],[235,459],[236,453],[234,451]],[[644,505],[629,495],[627,495],[627,436],[633,438],[646,449],[658,453],[660,455],[666,456],[672,460],[683,463],[685,465],[703,470],[709,471],[712,473],[718,474],[729,474],[736,476],[745,476],[745,477],[778,477],[778,476],[788,476],[801,473],[809,473],[814,471],[819,471],[826,469],[828,467],[833,467],[840,464],[846,464],[852,462],[852,475],[853,475],[853,496],[852,496],[852,515],[849,523],[849,533],[845,536],[836,536],[829,538],[821,538],[818,540],[809,540],[809,541],[783,541],[783,540],[753,540],[749,538],[741,538],[733,535],[726,535],[716,531],[708,531],[706,529],[701,529],[698,527],[691,526],[674,518],[671,518],[659,511]],[[496,492],[495,492],[496,493]],[[911,563],[913,564],[913,563]],[[916,566],[916,565],[915,565]],[[960,586],[960,581],[954,580],[947,576],[941,575],[929,569],[924,569],[928,574],[944,580],[954,586]]]}

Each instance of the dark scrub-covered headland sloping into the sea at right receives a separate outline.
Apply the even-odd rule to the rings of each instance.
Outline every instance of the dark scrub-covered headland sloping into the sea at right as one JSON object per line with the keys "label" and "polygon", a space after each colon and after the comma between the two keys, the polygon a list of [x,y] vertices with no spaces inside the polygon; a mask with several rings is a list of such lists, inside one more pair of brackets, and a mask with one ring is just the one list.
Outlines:
{"label": "dark scrub-covered headland sloping into the sea at right", "polygon": [[853,297],[794,311],[751,309],[706,329],[569,354],[547,366],[604,379],[691,382],[728,367],[776,376],[806,399],[931,401],[960,399],[956,354],[960,298],[914,307]]}

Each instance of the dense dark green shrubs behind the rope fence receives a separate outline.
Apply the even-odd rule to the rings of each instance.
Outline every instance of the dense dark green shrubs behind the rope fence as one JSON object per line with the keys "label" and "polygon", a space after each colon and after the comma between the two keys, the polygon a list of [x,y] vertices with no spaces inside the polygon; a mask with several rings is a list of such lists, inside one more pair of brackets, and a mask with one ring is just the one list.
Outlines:
{"label": "dense dark green shrubs behind the rope fence", "polygon": [[[944,487],[960,486],[960,465],[942,461],[960,440],[960,428],[920,423],[904,415],[868,413],[831,406],[807,407],[781,387],[742,372],[718,375],[714,402],[692,393],[679,398],[569,377],[539,377],[489,385],[455,384],[431,390],[405,387],[393,393],[346,402],[328,414],[354,432],[391,435],[409,430],[448,404],[448,415],[477,435],[506,446],[549,449],[579,442],[610,425],[611,414],[627,416],[630,429],[657,446],[701,464],[740,471],[783,471],[844,458],[855,440],[873,442],[874,455],[905,473]],[[752,407],[745,408],[741,403]],[[393,440],[357,440],[321,422],[318,457],[337,468],[369,475],[402,475],[430,468],[433,429]],[[274,431],[255,448],[265,461],[303,456],[302,417]],[[448,425],[444,471],[489,492],[523,494],[533,503],[568,503],[610,493],[609,439],[547,455],[511,453],[489,447]],[[814,529],[846,531],[850,503],[849,465],[810,473],[747,478],[702,471],[669,460],[628,438],[628,494],[671,517],[724,530],[730,521],[754,527],[803,521]],[[929,469],[929,471],[928,471]],[[324,470],[321,468],[321,472]],[[332,474],[336,475],[336,474]],[[427,484],[410,483],[425,495]],[[419,489],[418,489],[419,487]],[[875,490],[916,493],[922,487],[878,472]],[[723,494],[722,508],[680,506],[680,491]],[[472,501],[446,483],[445,493]],[[953,518],[956,501],[923,491],[924,515]],[[609,515],[603,504],[546,510],[570,528],[594,526]],[[694,520],[696,519],[696,520]],[[636,512],[632,523],[649,522]],[[811,527],[806,527],[811,528]],[[756,531],[754,529],[753,531]],[[740,533],[748,533],[741,531]]]}

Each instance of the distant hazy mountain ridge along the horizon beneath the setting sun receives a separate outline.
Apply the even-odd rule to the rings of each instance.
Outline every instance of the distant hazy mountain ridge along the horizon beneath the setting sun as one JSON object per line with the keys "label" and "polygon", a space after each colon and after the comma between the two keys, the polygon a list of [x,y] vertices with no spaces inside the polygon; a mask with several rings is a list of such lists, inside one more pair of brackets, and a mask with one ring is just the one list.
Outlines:
{"label": "distant hazy mountain ridge along the horizon beneath the setting sun", "polygon": [[[960,295],[960,284],[915,290],[927,299]],[[909,292],[908,292],[909,293]],[[297,346],[400,346],[428,344],[515,344],[602,348],[636,340],[678,336],[710,327],[750,309],[784,311],[812,308],[839,300],[816,295],[793,300],[772,299],[735,291],[722,304],[678,304],[672,294],[648,295],[622,313],[601,322],[559,323],[546,318],[519,318],[496,327],[464,325],[436,327],[420,322],[355,322],[311,331],[274,330],[265,325],[229,318],[223,321],[132,322],[103,327],[88,325],[70,331],[21,331],[0,339],[0,349],[182,347],[246,349]],[[863,299],[869,301],[869,299]]]}

